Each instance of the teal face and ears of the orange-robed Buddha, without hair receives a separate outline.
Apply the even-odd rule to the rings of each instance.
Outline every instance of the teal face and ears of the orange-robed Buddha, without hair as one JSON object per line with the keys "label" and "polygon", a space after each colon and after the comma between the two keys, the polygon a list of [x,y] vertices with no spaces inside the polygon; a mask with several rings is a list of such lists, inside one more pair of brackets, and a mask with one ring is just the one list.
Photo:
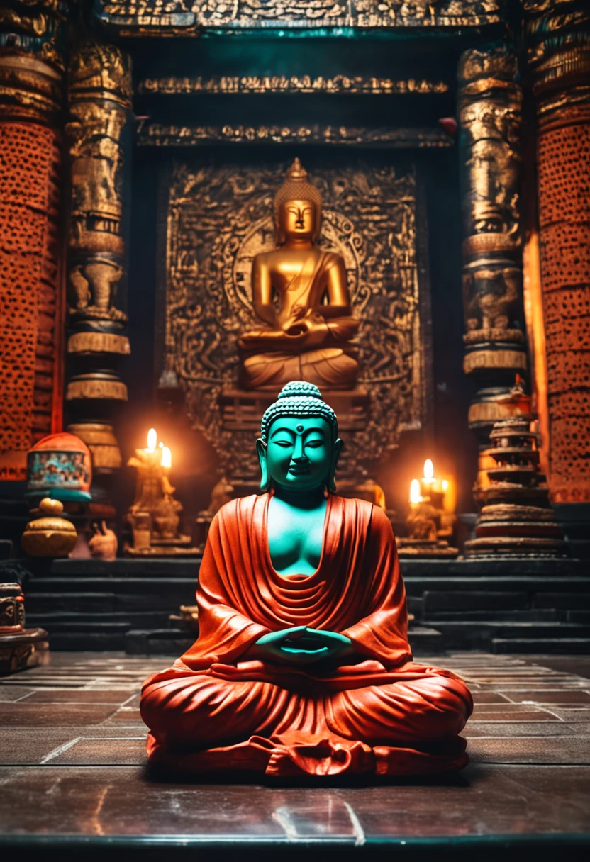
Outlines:
{"label": "teal face and ears of the orange-robed Buddha, without hair", "polygon": [[258,440],[260,486],[269,484],[295,493],[335,490],[334,472],[342,441],[334,441],[330,424],[318,416],[277,416],[267,443]]}

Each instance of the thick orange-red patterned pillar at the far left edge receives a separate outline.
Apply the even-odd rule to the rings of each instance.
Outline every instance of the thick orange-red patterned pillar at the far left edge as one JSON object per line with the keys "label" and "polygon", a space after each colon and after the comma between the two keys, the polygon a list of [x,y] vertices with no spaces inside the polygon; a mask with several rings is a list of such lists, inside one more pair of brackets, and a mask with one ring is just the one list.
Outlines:
{"label": "thick orange-red patterned pillar at the far left edge", "polygon": [[61,429],[60,109],[65,7],[0,15],[0,479]]}

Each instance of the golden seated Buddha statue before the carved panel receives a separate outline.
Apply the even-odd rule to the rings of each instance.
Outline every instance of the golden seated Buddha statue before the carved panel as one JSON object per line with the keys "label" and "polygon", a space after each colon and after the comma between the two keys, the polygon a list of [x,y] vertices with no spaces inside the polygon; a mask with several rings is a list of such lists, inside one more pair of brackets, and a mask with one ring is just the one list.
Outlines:
{"label": "golden seated Buddha statue before the carved panel", "polygon": [[274,390],[302,379],[352,389],[359,371],[351,344],[359,322],[350,313],[342,255],[317,247],[322,197],[295,159],[274,198],[276,248],[252,265],[254,311],[267,326],[242,334],[242,384]]}

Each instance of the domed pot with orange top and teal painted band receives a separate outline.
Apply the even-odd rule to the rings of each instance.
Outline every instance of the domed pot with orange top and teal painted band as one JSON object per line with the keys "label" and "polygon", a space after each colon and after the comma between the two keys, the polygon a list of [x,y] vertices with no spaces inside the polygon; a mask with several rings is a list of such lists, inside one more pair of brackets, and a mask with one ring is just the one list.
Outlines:
{"label": "domed pot with orange top and teal painted band", "polygon": [[28,453],[27,497],[53,497],[64,503],[89,503],[90,449],[75,434],[49,434]]}

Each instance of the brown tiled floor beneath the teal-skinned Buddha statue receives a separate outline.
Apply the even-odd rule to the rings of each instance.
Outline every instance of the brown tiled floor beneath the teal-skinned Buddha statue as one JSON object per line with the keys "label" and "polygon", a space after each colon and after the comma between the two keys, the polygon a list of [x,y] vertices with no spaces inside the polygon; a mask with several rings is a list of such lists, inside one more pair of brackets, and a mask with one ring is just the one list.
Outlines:
{"label": "brown tiled floor beneath the teal-skinned Buddha statue", "polygon": [[471,764],[376,786],[151,776],[139,688],[165,664],[53,653],[0,680],[3,859],[587,859],[590,659],[445,655]]}

